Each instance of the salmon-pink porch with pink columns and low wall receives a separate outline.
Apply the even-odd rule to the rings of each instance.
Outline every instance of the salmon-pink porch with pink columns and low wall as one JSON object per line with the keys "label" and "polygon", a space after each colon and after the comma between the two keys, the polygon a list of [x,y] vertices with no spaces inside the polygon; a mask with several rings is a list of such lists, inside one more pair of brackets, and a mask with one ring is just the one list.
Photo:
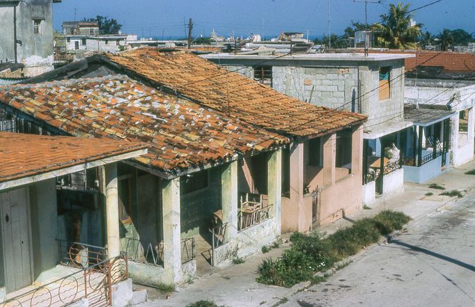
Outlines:
{"label": "salmon-pink porch with pink columns and low wall", "polygon": [[361,205],[362,127],[293,143],[283,155],[282,232],[308,232]]}

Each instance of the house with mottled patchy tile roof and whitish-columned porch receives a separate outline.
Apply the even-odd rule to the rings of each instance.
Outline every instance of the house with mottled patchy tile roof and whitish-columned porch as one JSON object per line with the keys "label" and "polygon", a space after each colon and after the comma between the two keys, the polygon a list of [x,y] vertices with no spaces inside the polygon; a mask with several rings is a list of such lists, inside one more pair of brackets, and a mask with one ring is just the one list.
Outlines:
{"label": "house with mottled patchy tile roof and whitish-columned porch", "polygon": [[184,283],[281,233],[285,136],[118,74],[4,87],[0,101],[15,132],[153,144],[117,171],[120,251],[134,282]]}

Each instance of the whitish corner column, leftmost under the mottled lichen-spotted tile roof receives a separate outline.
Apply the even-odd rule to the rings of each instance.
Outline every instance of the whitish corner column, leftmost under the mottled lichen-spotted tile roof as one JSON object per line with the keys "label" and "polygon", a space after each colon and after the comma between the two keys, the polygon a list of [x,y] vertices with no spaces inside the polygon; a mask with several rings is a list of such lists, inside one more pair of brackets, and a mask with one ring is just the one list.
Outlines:
{"label": "whitish corner column, leftmost under the mottled lichen-spotted tile roof", "polygon": [[162,180],[163,258],[165,282],[179,281],[181,268],[180,178]]}

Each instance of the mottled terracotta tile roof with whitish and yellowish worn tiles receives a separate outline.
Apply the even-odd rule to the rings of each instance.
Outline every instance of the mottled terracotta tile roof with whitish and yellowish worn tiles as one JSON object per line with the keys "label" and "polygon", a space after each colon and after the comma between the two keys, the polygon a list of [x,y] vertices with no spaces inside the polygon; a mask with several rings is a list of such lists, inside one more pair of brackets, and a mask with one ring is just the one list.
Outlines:
{"label": "mottled terracotta tile roof with whitish and yellowish worn tiles", "polygon": [[122,75],[3,86],[0,102],[74,136],[152,143],[136,160],[167,175],[289,141]]}

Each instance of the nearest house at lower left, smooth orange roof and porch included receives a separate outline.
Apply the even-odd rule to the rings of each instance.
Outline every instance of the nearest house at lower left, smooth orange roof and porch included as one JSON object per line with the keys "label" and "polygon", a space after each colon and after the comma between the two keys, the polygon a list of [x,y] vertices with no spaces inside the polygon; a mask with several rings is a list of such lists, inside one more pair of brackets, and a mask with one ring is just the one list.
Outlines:
{"label": "nearest house at lower left, smooth orange roof and porch included", "polygon": [[[147,146],[11,132],[0,132],[0,140],[2,304],[114,303],[118,297],[112,288],[130,283],[127,262],[119,249],[118,220],[114,219],[119,208],[117,163],[145,154]],[[20,149],[19,144],[28,149]],[[104,189],[96,194],[96,204],[90,198],[88,210],[62,199],[66,189],[63,181],[82,172],[103,176],[99,181]],[[85,195],[68,190],[71,200]],[[94,210],[100,212],[103,221],[85,219]],[[97,235],[88,225],[92,222],[100,224],[107,249],[79,243],[81,236]],[[95,273],[87,274],[89,269]],[[71,284],[71,280],[77,283]],[[105,290],[111,288],[111,296],[98,290],[102,285]],[[132,292],[121,295],[131,298]]]}

